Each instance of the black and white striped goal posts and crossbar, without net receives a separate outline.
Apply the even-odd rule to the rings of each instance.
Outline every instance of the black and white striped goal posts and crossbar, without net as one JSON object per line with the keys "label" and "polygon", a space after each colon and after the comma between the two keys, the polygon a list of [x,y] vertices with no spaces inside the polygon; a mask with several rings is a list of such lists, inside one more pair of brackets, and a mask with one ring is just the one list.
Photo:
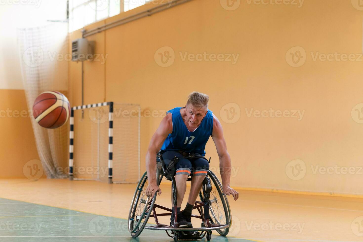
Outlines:
{"label": "black and white striped goal posts and crossbar, without net", "polygon": [[69,124],[69,180],[73,180],[73,139],[74,139],[74,110],[82,110],[92,107],[109,106],[109,183],[112,183],[112,161],[113,161],[113,104],[114,102],[93,103],[71,108]]}

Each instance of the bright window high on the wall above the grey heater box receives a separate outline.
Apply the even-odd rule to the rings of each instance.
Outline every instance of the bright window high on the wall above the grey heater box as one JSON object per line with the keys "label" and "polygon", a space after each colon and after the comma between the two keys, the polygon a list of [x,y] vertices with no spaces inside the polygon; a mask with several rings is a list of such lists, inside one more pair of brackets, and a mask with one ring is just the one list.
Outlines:
{"label": "bright window high on the wall above the grey heater box", "polygon": [[137,8],[152,0],[69,0],[69,32]]}

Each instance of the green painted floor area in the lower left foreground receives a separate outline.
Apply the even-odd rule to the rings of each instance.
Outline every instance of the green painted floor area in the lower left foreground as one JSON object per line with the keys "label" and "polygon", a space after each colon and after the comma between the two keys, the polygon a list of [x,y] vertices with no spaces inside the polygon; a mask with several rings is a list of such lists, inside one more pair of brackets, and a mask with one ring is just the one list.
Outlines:
{"label": "green painted floor area in the lower left foreground", "polygon": [[[156,230],[144,230],[134,239],[127,230],[127,221],[121,218],[0,198],[0,241],[167,242],[173,239],[165,231]],[[211,241],[247,240],[212,235]]]}

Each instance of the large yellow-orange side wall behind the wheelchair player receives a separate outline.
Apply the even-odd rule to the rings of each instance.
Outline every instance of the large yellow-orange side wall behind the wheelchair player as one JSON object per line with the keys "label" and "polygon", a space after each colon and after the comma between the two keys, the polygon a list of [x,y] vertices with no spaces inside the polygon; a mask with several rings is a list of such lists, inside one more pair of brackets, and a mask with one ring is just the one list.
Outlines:
{"label": "large yellow-orange side wall behind the wheelchair player", "polygon": [[[314,174],[311,168],[362,166],[363,125],[351,116],[352,108],[363,102],[362,62],[314,61],[311,52],[362,53],[363,12],[351,1],[340,0],[305,1],[302,6],[298,1],[293,2],[297,5],[241,1],[234,11],[221,7],[221,2],[192,0],[88,37],[96,41],[96,53],[108,56],[104,65],[84,63],[85,104],[114,101],[139,103],[143,110],[169,110],[184,106],[190,92],[200,91],[209,95],[209,109],[223,125],[237,171],[232,186],[363,194],[362,175]],[[154,6],[121,13],[86,29]],[[79,38],[80,31],[70,36],[70,41]],[[163,46],[175,52],[169,67],[154,60]],[[290,66],[285,58],[294,46],[306,51],[300,67]],[[239,57],[234,65],[182,61],[179,52]],[[69,65],[74,106],[81,104],[81,63]],[[220,113],[228,103],[240,108],[240,119],[232,124],[223,121],[224,108]],[[249,118],[245,109],[251,108],[300,110],[304,115],[301,120]],[[147,145],[160,120],[142,118],[142,171]],[[212,156],[211,166],[218,167],[212,140],[206,156]],[[300,180],[285,172],[295,159],[306,164]]]}

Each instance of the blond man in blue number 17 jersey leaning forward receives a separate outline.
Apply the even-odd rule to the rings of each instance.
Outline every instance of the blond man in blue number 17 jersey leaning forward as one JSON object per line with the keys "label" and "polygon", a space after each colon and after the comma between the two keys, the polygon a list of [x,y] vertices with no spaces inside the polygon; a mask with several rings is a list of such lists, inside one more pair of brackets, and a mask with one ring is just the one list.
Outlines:
{"label": "blond man in blue number 17 jersey leaning forward", "polygon": [[[177,226],[191,228],[191,214],[193,204],[207,175],[209,163],[203,158],[188,160],[183,158],[188,153],[205,155],[205,144],[209,136],[216,145],[220,161],[220,170],[223,184],[223,193],[238,199],[238,192],[229,186],[231,178],[231,157],[223,137],[221,123],[208,110],[209,97],[206,94],[193,92],[189,95],[185,107],[176,107],[167,112],[155,134],[152,136],[146,154],[146,170],[149,184],[146,188],[147,196],[154,196],[155,192],[161,194],[161,189],[156,184],[156,155],[160,150],[163,160],[179,158],[176,164],[176,190],[177,190]],[[183,201],[186,180],[192,176],[191,189],[188,202],[183,212],[180,212]],[[172,206],[171,224],[174,222],[175,211]]]}

